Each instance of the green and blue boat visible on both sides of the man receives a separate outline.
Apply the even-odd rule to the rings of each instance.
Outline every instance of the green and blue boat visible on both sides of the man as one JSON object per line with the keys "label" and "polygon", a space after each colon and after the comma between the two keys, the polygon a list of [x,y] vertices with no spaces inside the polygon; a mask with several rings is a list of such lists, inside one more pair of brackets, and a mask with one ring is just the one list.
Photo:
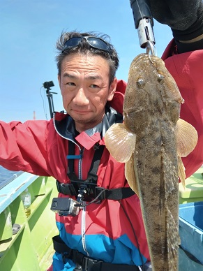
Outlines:
{"label": "green and blue boat visible on both sides of the man", "polygon": [[[201,167],[186,179],[186,190],[179,184],[179,233],[183,246],[179,249],[179,271],[203,271],[203,217],[199,215],[203,213],[202,174]],[[22,198],[27,189],[31,194],[29,216]],[[45,271],[50,267],[54,254],[52,237],[58,234],[50,206],[57,194],[53,177],[31,173],[19,172],[0,185],[0,270]]]}

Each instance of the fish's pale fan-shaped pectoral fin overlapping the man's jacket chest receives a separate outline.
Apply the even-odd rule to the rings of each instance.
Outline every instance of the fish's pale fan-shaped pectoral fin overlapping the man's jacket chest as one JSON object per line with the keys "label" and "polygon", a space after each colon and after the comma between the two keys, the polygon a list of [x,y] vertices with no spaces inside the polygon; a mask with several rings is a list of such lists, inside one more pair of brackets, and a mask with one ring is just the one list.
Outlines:
{"label": "fish's pale fan-shaped pectoral fin overlapping the man's jacket chest", "polygon": [[126,163],[135,150],[136,135],[126,129],[125,124],[110,126],[105,134],[105,145],[110,154],[121,163]]}

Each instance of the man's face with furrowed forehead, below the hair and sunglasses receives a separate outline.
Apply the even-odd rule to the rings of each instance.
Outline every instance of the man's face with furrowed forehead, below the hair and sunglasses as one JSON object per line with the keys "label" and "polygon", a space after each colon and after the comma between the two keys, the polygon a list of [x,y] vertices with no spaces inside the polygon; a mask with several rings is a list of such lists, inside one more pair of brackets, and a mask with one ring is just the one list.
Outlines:
{"label": "man's face with furrowed forehead, below the hair and sunglasses", "polygon": [[61,64],[59,85],[63,107],[82,132],[99,124],[105,114],[105,104],[116,90],[116,78],[110,85],[110,67],[100,56],[70,54]]}

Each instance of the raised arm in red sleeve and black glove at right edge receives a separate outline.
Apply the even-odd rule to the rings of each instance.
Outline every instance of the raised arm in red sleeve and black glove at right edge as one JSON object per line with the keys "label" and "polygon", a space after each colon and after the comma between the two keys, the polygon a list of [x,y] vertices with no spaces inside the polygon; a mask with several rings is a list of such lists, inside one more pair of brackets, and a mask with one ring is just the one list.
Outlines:
{"label": "raised arm in red sleeve and black glove at right edge", "polygon": [[197,146],[182,158],[189,177],[203,164],[203,3],[202,0],[149,0],[149,3],[153,18],[172,29],[174,40],[162,58],[185,100],[180,117],[198,133]]}

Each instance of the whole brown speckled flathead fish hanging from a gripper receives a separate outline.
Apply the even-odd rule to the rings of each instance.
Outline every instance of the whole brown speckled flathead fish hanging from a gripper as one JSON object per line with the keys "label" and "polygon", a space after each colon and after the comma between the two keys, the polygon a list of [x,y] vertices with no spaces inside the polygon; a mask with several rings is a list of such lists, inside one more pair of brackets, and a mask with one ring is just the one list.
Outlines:
{"label": "whole brown speckled flathead fish hanging from a gripper", "polygon": [[140,206],[153,271],[179,269],[179,180],[181,157],[197,144],[195,128],[180,119],[184,100],[165,63],[139,54],[130,64],[123,123],[105,134],[110,154],[125,163],[129,186]]}

